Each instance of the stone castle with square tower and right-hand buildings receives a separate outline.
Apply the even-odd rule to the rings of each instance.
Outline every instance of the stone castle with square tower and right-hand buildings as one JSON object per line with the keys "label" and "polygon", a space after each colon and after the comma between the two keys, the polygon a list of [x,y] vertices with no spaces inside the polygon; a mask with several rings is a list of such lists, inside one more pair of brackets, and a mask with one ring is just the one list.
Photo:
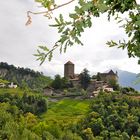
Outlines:
{"label": "stone castle with square tower and right-hand buildings", "polygon": [[[80,74],[75,74],[75,66],[71,61],[64,64],[64,77],[68,78],[74,86],[80,86]],[[111,80],[118,82],[117,72],[114,73],[110,70],[108,73],[98,73],[99,79],[92,79],[87,90],[95,91],[100,88],[106,88],[112,91],[112,87],[109,86]]]}

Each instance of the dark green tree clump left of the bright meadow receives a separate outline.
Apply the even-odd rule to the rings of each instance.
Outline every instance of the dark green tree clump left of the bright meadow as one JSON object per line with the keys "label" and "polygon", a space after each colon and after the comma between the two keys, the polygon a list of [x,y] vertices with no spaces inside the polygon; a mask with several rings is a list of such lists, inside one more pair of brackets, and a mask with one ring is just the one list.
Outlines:
{"label": "dark green tree clump left of the bright meadow", "polygon": [[3,93],[0,94],[0,102],[8,102],[10,105],[15,105],[24,113],[41,114],[47,111],[47,101],[39,95],[27,95],[25,93],[21,98],[18,95]]}

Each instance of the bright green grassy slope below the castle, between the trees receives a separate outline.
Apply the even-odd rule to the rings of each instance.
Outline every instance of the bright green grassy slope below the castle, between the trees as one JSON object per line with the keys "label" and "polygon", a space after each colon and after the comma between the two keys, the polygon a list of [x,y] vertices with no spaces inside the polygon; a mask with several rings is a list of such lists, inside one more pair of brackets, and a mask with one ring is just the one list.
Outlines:
{"label": "bright green grassy slope below the castle, between the trees", "polygon": [[83,118],[89,111],[90,100],[63,99],[56,103],[49,103],[48,112],[41,118],[48,124],[73,124]]}

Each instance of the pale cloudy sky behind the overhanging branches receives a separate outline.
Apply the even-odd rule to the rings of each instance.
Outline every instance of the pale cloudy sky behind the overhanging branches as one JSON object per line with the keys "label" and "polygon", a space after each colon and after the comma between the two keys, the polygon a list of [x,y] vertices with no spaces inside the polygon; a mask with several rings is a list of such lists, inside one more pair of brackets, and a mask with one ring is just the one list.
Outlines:
{"label": "pale cloudy sky behind the overhanging branches", "polygon": [[[64,1],[64,0],[63,0]],[[139,1],[139,0],[138,0]],[[60,0],[58,0],[60,3]],[[62,0],[61,0],[62,2]],[[75,64],[75,73],[87,68],[91,74],[119,68],[133,73],[140,72],[137,58],[128,58],[127,50],[108,48],[108,40],[126,39],[125,32],[113,19],[109,22],[106,15],[93,18],[93,26],[82,34],[83,46],[74,45],[65,54],[55,52],[51,62],[45,61],[39,65],[36,57],[37,46],[53,46],[59,39],[57,30],[49,27],[54,20],[43,15],[32,16],[32,24],[25,26],[26,12],[42,11],[34,0],[6,0],[0,2],[0,62],[7,62],[20,67],[28,67],[43,72],[45,75],[63,76],[63,65],[67,61]],[[58,9],[53,18],[63,13],[67,18],[73,11],[74,4]]]}

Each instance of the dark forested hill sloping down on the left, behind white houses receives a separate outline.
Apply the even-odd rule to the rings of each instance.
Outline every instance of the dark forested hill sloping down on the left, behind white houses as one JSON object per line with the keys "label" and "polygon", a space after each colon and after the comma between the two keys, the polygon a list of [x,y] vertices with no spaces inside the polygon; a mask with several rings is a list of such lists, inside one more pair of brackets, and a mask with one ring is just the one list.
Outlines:
{"label": "dark forested hill sloping down on the left, behind white houses", "polygon": [[21,88],[28,87],[33,90],[42,90],[51,82],[51,78],[44,76],[41,72],[15,67],[4,62],[0,63],[0,78],[14,82]]}

